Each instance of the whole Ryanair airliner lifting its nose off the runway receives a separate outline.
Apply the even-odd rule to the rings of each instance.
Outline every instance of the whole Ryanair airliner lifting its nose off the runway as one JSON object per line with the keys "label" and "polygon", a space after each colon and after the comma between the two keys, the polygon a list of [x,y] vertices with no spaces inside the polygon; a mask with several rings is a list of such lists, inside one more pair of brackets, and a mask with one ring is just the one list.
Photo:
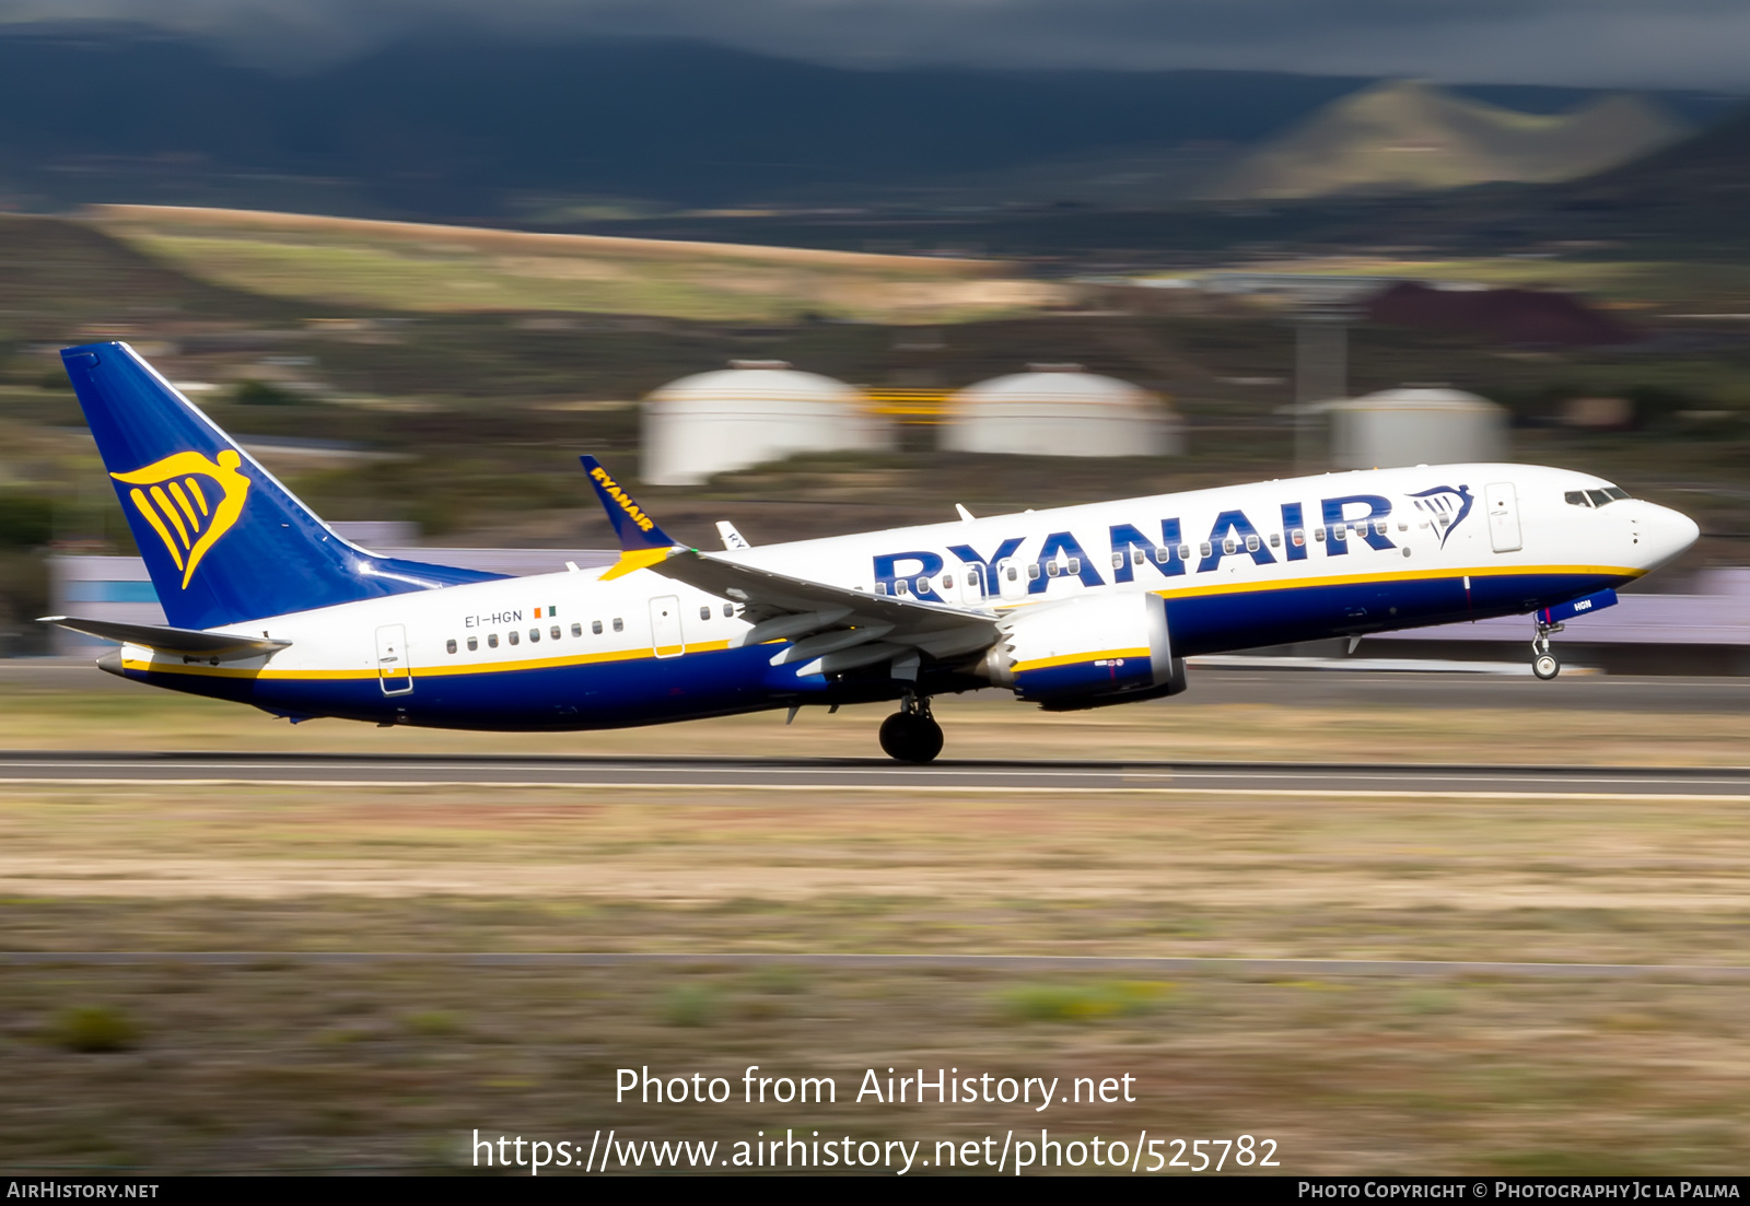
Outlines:
{"label": "whole Ryanair airliner lifting its nose off the runway", "polygon": [[502,578],[331,532],[133,348],[61,354],[168,625],[51,616],[98,665],[303,721],[581,730],[1001,686],[1050,711],[1185,690],[1185,658],[1522,614],[1549,634],[1689,548],[1687,516],[1591,474],[1418,466],[724,551],[670,541],[584,457],[606,569]]}

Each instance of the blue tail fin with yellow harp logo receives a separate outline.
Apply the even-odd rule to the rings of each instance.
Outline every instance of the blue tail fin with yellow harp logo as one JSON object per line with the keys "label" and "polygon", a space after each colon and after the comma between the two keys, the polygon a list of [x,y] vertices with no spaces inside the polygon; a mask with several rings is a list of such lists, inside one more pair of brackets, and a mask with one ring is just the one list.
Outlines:
{"label": "blue tail fin with yellow harp logo", "polygon": [[126,343],[61,361],[178,628],[500,578],[348,544]]}

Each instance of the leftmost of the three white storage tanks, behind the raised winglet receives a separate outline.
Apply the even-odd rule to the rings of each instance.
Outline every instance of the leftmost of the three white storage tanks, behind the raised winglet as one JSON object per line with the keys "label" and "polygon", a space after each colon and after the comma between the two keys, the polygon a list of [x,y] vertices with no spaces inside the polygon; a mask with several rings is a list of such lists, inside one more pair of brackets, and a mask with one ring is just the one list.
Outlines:
{"label": "leftmost of the three white storage tanks, behind the raised winglet", "polygon": [[798,452],[884,450],[863,392],[784,361],[732,361],[644,399],[644,481],[698,485]]}

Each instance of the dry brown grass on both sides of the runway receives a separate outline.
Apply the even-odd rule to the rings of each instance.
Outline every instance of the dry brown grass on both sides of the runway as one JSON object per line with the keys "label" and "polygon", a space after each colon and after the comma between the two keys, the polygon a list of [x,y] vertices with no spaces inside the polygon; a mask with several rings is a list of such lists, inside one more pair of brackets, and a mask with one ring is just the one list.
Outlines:
{"label": "dry brown grass on both sides of the runway", "polygon": [[[9,746],[868,753],[873,716],[499,739],[287,728],[16,684]],[[1535,707],[945,702],[954,753],[1741,761],[1740,716]],[[1442,740],[1449,744],[1440,744]],[[1474,749],[1474,746],[1472,746]],[[732,966],[724,952],[1745,964],[1732,800],[1155,793],[0,786],[10,950],[254,950],[0,966],[0,1164],[469,1167],[467,1139],[1136,1141],[1251,1134],[1284,1173],[1743,1166],[1750,985],[1654,977],[1125,977]],[[298,964],[273,952],[425,961]],[[457,952],[698,954],[464,966]],[[831,1076],[836,1104],[614,1101],[620,1068]],[[889,1106],[868,1069],[1136,1076],[1136,1101]],[[928,1075],[934,1075],[929,1071]],[[730,1148],[724,1148],[724,1155]],[[934,1171],[934,1162],[931,1169]],[[917,1169],[924,1171],[924,1169]],[[915,1173],[914,1173],[915,1174]]]}

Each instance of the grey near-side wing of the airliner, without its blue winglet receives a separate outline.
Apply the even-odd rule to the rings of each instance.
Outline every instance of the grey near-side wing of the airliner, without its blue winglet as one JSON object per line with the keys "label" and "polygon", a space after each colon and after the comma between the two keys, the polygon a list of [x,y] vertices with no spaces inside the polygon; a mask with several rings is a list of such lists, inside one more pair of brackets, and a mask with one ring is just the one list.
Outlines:
{"label": "grey near-side wing of the airliner, without its blue winglet", "polygon": [[870,595],[723,560],[693,548],[674,548],[646,569],[712,595],[740,600],[744,618],[754,625],[744,644],[803,637],[780,653],[775,665],[819,655],[824,660],[822,670],[833,672],[866,665],[880,656],[903,656],[910,649],[954,656],[984,649],[999,635],[994,613]]}

